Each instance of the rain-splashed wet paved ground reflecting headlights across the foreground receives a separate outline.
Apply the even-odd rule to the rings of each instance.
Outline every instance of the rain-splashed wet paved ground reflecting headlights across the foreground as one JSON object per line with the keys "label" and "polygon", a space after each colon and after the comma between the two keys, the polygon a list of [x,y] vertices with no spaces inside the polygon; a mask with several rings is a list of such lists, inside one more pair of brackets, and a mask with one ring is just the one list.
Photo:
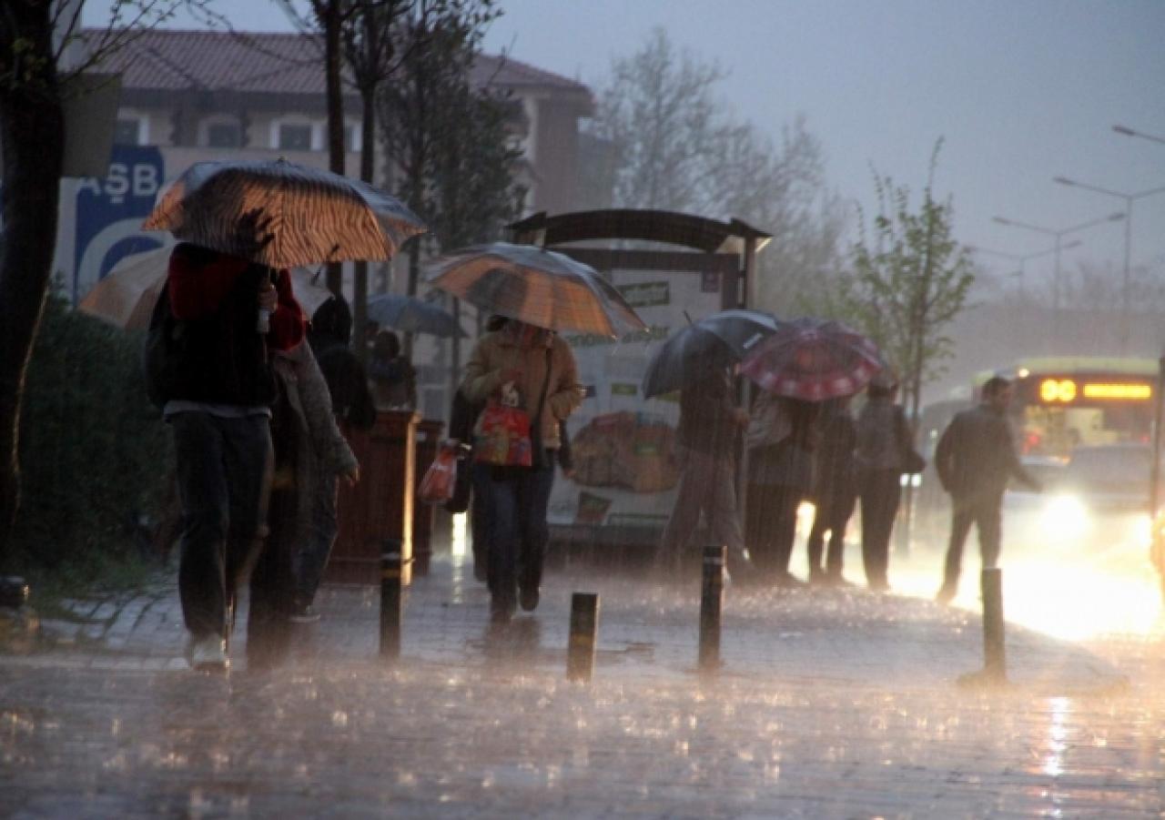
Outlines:
{"label": "rain-splashed wet paved ground reflecting headlights across the foreground", "polygon": [[[968,691],[967,609],[862,589],[725,595],[696,670],[698,580],[558,571],[487,625],[446,558],[376,658],[376,591],[327,588],[281,670],[195,674],[170,582],[76,601],[54,648],[0,657],[0,815],[1160,817],[1165,642],[1011,625],[1012,686]],[[571,592],[600,595],[589,685]],[[106,607],[101,609],[101,607]],[[1086,606],[1080,602],[1079,606]],[[241,627],[241,623],[240,623]],[[239,630],[242,634],[242,630]]]}

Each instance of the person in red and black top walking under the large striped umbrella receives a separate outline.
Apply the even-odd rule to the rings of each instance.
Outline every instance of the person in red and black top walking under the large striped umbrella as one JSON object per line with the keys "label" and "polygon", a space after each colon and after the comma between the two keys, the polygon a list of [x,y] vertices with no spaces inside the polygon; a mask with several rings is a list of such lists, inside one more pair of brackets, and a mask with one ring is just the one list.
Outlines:
{"label": "person in red and black top walking under the large striped umbrella", "polygon": [[182,500],[178,592],[195,669],[225,670],[234,591],[262,546],[271,472],[270,351],[304,337],[287,270],[182,243],[167,288],[170,354],[156,393]]}

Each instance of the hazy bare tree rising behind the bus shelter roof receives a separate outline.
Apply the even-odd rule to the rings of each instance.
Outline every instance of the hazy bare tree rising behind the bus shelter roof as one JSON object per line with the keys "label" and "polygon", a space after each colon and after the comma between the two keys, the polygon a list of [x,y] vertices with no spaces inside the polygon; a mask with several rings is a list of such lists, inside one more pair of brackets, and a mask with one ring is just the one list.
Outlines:
{"label": "hazy bare tree rising behind the bus shelter roof", "polygon": [[771,233],[754,294],[785,313],[816,303],[840,267],[845,215],[805,120],[775,142],[732,115],[720,96],[725,78],[715,63],[652,31],[637,52],[614,61],[589,132],[609,150],[586,174],[609,181],[616,207],[736,217]]}

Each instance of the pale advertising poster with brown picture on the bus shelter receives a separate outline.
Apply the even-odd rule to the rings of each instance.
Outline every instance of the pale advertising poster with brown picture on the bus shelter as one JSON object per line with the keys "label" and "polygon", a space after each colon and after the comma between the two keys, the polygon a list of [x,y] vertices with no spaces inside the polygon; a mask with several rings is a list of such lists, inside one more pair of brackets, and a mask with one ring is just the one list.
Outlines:
{"label": "pale advertising poster with brown picture on the bus shelter", "polygon": [[612,283],[648,325],[622,339],[563,333],[587,396],[567,429],[574,474],[558,473],[550,497],[551,529],[596,526],[662,531],[679,485],[676,459],[678,395],[644,400],[651,356],[676,331],[721,309],[715,274],[621,270]]}

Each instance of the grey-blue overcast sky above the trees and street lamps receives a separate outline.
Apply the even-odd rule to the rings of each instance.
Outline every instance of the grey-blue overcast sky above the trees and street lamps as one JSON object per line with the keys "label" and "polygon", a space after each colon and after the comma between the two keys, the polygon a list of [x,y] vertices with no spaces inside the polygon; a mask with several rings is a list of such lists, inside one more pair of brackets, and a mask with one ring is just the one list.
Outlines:
{"label": "grey-blue overcast sky above the trees and street lamps", "polygon": [[[108,3],[90,0],[87,24]],[[288,30],[271,0],[221,0],[234,26]],[[501,0],[487,50],[602,85],[612,57],[656,26],[729,72],[735,112],[779,134],[804,114],[827,153],[831,184],[869,203],[869,168],[920,189],[946,139],[937,190],[953,195],[956,233],[1026,254],[1052,238],[993,215],[1062,229],[1123,203],[1052,182],[1066,176],[1125,193],[1165,186],[1165,1],[1121,0]],[[175,26],[190,26],[177,20]],[[723,215],[732,214],[708,214]],[[1165,275],[1165,193],[1136,203],[1134,264]],[[763,226],[758,226],[763,227]],[[1118,222],[1065,238],[1076,261],[1122,264]],[[1050,257],[1048,257],[1050,259]],[[982,256],[997,273],[1015,266]],[[1028,263],[1035,280],[1048,260]]]}

